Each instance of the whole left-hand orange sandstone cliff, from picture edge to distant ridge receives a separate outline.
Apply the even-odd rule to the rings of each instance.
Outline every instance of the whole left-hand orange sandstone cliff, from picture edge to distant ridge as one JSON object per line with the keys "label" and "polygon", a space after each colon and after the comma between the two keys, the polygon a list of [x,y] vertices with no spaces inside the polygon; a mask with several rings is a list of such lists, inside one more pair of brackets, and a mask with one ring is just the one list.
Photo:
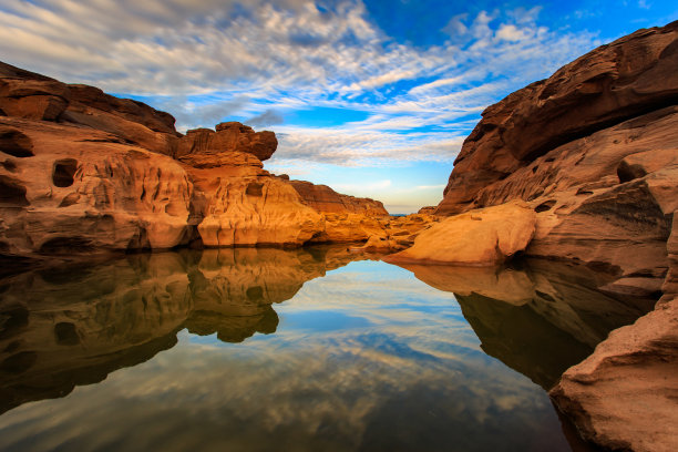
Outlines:
{"label": "whole left-hand orange sandstone cliff, from picture edge to distant ridge", "polygon": [[277,144],[237,122],[182,135],[172,115],[141,102],[0,63],[0,255],[383,234],[372,219],[388,216],[381,203],[265,171]]}

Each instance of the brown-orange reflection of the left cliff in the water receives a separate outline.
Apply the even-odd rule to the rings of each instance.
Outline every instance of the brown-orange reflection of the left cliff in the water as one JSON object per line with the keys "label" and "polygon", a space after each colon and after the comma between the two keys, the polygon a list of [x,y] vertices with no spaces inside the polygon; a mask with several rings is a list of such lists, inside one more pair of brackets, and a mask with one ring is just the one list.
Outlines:
{"label": "brown-orange reflection of the left cliff in the water", "polygon": [[0,280],[0,412],[144,362],[183,328],[229,342],[275,332],[274,302],[353,258],[337,247],[184,250]]}

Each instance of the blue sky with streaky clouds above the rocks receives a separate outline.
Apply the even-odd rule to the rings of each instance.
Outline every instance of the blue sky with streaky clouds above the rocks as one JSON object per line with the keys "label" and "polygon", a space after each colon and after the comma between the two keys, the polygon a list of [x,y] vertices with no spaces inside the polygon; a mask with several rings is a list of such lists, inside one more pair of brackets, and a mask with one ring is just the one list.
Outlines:
{"label": "blue sky with streaky clouds above the rocks", "polygon": [[442,199],[482,111],[678,20],[676,0],[2,0],[0,60],[172,113],[273,130],[276,174],[390,213]]}

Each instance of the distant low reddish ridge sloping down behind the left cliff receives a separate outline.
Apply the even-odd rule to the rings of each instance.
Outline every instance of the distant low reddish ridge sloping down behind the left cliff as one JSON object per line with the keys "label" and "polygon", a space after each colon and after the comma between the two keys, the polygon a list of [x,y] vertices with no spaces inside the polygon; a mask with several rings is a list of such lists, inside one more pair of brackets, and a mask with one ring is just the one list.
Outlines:
{"label": "distant low reddish ridge sloping down behind the left cliff", "polygon": [[327,185],[315,185],[306,181],[290,181],[301,196],[301,202],[321,213],[362,214],[370,217],[388,216],[379,201],[342,195]]}

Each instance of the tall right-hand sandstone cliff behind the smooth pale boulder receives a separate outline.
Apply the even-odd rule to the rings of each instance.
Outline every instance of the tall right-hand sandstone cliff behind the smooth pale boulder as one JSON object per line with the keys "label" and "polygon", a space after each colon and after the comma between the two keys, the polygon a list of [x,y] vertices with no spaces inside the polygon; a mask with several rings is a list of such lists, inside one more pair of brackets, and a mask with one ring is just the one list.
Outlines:
{"label": "tall right-hand sandstone cliff behind the smooth pale boulder", "polygon": [[490,106],[436,212],[523,199],[537,213],[526,254],[606,263],[631,278],[622,290],[658,291],[678,199],[677,49],[677,23],[640,30]]}

